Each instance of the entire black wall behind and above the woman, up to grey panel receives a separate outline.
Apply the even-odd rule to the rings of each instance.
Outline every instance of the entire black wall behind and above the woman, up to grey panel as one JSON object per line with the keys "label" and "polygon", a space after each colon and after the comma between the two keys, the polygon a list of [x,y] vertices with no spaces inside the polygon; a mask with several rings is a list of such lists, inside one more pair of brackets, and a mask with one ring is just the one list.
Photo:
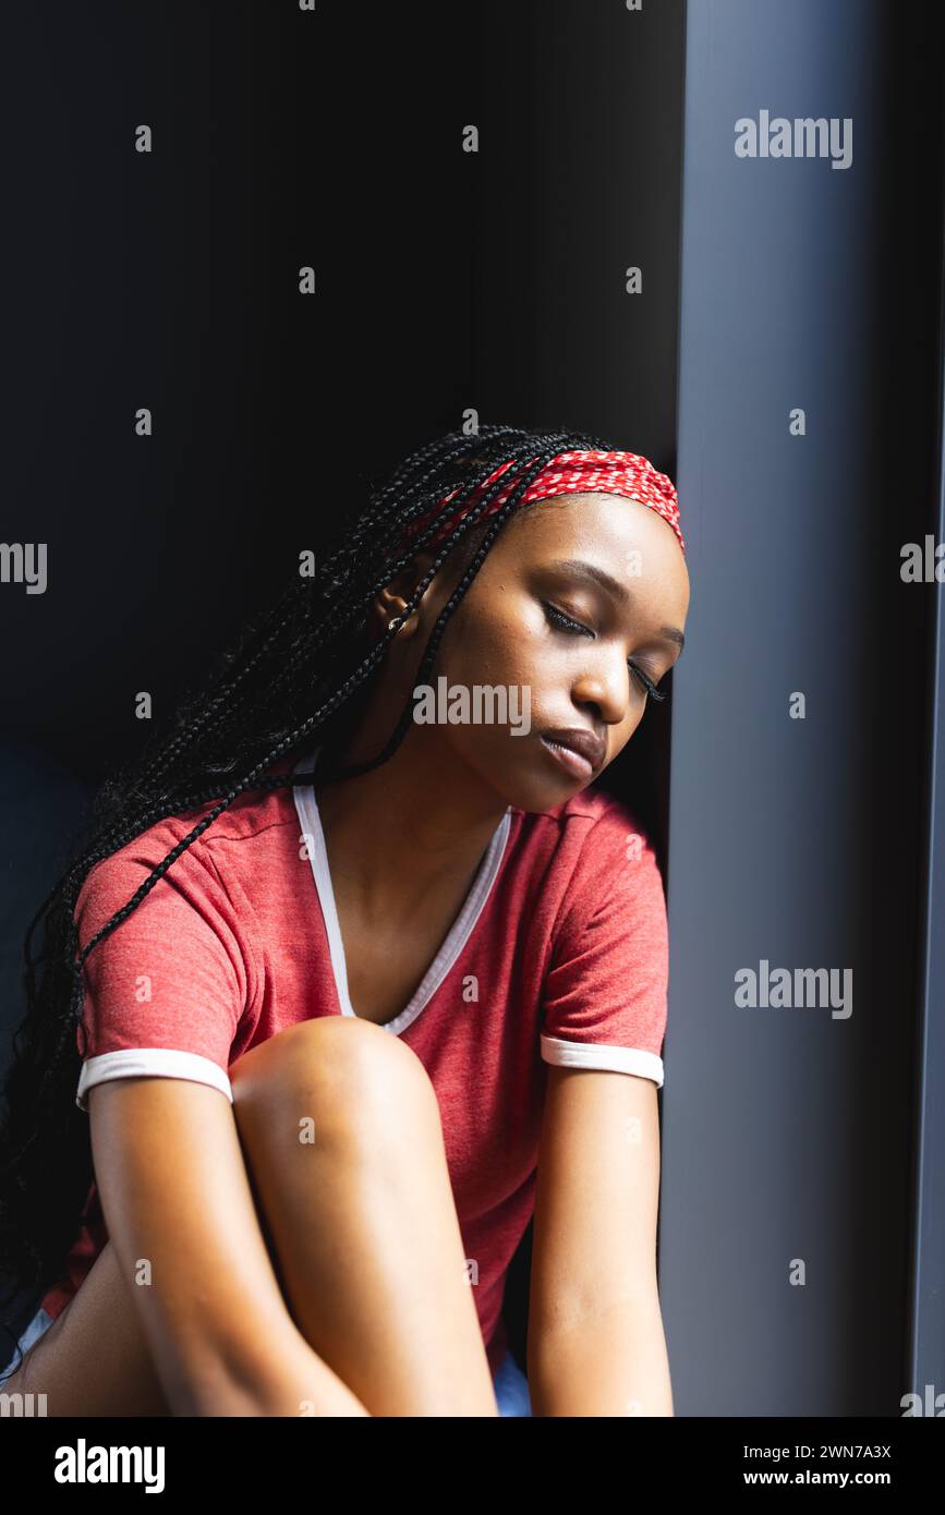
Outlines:
{"label": "entire black wall behind and above the woman, up to grey panel", "polygon": [[672,465],[680,5],[106,0],[9,30],[3,532],[48,544],[48,588],[0,595],[2,733],[95,780],[133,694],[170,709],[468,406]]}

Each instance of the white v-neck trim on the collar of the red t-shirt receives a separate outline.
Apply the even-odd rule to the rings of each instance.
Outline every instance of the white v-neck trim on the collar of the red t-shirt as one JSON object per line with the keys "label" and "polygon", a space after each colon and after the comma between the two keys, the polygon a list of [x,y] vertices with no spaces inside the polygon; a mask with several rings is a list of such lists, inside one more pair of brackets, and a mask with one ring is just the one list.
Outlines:
{"label": "white v-neck trim on the collar of the red t-shirt", "polygon": [[[317,747],[306,758],[301,758],[295,764],[294,773],[315,773],[315,762],[320,751],[321,747]],[[329,850],[321,824],[321,815],[318,814],[315,789],[312,785],[298,785],[292,789],[292,795],[295,798],[295,811],[298,814],[303,835],[310,838],[309,862],[312,865],[312,877],[315,880],[315,889],[318,891],[321,914],[324,917],[326,932],[329,936],[338,1003],[341,1004],[342,1015],[354,1015],[354,1007],[348,994],[348,967],[341,936],[341,923],[338,920],[338,904],[335,901],[335,888],[332,885],[332,873],[329,870]],[[492,885],[506,851],[510,826],[512,806],[507,806],[506,814],[492,833],[492,841],[486,848],[479,873],[476,874],[469,892],[460,906],[459,915],[447,932],[439,951],[423,976],[410,1003],[400,1012],[400,1015],[395,1015],[392,1021],[388,1021],[383,1030],[400,1036],[400,1033],[416,1020],[419,1012],[426,1009],[436,989],[450,973],[450,968],[469,941],[472,929],[483,912],[489,894],[492,892]]]}

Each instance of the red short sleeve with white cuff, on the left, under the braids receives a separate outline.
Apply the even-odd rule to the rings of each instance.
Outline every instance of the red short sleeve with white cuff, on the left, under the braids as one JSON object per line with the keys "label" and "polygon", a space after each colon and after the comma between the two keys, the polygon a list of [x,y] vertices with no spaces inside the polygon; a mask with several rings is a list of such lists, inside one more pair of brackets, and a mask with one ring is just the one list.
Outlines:
{"label": "red short sleeve with white cuff, on the left, under the braids", "polygon": [[[123,848],[94,865],[74,909],[82,947],[129,903],[171,845],[153,861]],[[215,870],[189,851],[83,962],[80,1110],[88,1110],[95,1083],[142,1074],[209,1083],[233,1100],[227,1068],[247,973]],[[82,1053],[79,1027],[76,1038]]]}

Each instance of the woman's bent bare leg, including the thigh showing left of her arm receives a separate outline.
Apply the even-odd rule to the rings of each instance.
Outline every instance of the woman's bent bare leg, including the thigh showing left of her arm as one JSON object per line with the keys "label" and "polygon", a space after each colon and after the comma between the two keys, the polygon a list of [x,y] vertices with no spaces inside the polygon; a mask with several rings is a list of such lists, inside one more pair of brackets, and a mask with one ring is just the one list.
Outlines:
{"label": "woman's bent bare leg, including the thigh showing left of her arm", "polygon": [[[495,1415],[465,1270],[454,1288],[462,1242],[419,1059],[370,1021],[324,1017],[270,1038],[230,1074],[260,1227],[312,1347],[365,1403],[377,1391],[394,1404],[370,1403],[376,1415]],[[2,1389],[44,1392],[53,1417],[171,1413],[111,1242]],[[419,1401],[433,1407],[409,1407]]]}

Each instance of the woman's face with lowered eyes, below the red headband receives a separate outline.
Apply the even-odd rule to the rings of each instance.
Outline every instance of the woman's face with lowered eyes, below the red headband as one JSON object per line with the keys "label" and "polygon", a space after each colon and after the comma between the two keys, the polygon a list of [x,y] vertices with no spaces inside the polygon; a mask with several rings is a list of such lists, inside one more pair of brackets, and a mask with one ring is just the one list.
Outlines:
{"label": "woman's face with lowered eyes, below the red headband", "polygon": [[[456,577],[438,576],[401,629],[415,650],[413,670]],[[435,744],[444,776],[479,780],[503,806],[560,804],[598,779],[633,736],[647,706],[642,676],[659,685],[675,664],[688,609],[678,539],[648,506],[612,494],[530,506],[503,527],[426,677],[433,691],[438,679],[450,694],[468,691],[471,717],[477,686],[480,694],[503,686],[507,718],[416,724],[415,709],[407,739]],[[592,768],[548,745],[547,733],[560,733],[566,745],[574,732],[597,739]]]}

